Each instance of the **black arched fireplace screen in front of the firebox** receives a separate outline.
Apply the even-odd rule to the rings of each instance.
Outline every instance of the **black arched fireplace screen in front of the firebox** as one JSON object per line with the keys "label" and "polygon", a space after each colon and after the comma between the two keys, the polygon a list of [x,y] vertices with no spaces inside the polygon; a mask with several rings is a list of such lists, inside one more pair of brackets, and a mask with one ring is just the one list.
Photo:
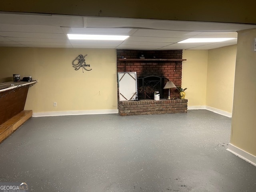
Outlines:
{"label": "black arched fireplace screen in front of the firebox", "polygon": [[167,78],[159,76],[138,78],[138,99],[154,99],[155,91],[160,93],[160,98],[168,96],[168,90],[163,89],[167,81]]}

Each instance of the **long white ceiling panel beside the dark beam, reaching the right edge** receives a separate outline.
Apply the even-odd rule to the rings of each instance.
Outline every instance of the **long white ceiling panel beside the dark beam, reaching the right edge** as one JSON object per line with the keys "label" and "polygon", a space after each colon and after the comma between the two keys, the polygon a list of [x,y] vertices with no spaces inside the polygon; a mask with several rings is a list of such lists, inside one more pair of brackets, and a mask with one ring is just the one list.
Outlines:
{"label": "long white ceiling panel beside the dark beam, reaching the right edge", "polygon": [[130,27],[176,31],[233,31],[255,28],[250,24],[233,24],[217,22],[196,22],[196,21],[177,21],[177,20],[153,20],[153,19],[129,19],[129,18],[84,18],[84,26],[87,27]]}

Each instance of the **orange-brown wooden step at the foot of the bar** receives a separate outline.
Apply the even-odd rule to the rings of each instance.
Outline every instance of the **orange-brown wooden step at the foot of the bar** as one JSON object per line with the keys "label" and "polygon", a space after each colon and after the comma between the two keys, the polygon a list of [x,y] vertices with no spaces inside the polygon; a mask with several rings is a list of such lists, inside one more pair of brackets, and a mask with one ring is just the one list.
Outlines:
{"label": "orange-brown wooden step at the foot of the bar", "polygon": [[32,110],[23,110],[0,125],[0,143],[32,117]]}

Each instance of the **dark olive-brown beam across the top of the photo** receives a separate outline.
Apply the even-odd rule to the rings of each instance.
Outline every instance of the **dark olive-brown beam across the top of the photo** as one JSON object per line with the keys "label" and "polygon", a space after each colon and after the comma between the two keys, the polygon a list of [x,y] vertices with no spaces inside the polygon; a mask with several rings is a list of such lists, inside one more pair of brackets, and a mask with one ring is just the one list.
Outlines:
{"label": "dark olive-brown beam across the top of the photo", "polygon": [[252,0],[1,0],[0,10],[256,24],[255,3]]}

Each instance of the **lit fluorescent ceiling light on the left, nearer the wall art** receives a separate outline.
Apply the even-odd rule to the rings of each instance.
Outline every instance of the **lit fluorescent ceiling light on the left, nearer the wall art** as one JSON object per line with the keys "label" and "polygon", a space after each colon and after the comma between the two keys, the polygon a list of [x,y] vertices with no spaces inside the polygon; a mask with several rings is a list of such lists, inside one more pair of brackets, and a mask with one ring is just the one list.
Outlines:
{"label": "lit fluorescent ceiling light on the left, nearer the wall art", "polygon": [[128,35],[85,35],[85,34],[67,34],[69,39],[74,40],[125,40]]}

